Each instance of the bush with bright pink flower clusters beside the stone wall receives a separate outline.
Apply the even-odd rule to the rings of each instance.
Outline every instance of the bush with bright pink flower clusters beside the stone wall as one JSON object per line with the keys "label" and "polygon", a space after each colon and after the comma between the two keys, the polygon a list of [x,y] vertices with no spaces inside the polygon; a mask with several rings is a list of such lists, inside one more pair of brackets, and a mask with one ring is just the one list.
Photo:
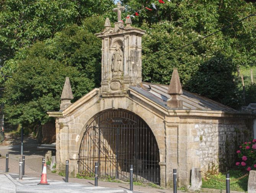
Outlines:
{"label": "bush with bright pink flower clusters beside the stone wall", "polygon": [[256,170],[256,139],[250,142],[244,142],[236,151],[239,160],[236,166],[246,171]]}

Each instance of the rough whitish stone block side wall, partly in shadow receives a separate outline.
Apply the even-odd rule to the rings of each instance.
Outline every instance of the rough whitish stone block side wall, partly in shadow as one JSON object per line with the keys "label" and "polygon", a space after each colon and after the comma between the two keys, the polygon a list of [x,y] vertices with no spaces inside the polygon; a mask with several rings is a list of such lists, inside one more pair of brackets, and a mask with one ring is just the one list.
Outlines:
{"label": "rough whitish stone block side wall, partly in shadow", "polygon": [[196,155],[199,158],[202,171],[212,166],[227,170],[235,163],[236,149],[241,142],[253,135],[253,129],[246,126],[246,120],[240,124],[225,120],[219,123],[195,124],[197,135],[194,142],[199,142]]}

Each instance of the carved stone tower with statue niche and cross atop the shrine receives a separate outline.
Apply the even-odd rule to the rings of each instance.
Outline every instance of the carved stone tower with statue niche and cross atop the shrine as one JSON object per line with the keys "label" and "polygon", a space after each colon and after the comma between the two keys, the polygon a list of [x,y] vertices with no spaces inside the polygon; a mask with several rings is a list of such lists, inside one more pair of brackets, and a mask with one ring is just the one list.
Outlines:
{"label": "carved stone tower with statue niche and cross atop the shrine", "polygon": [[111,27],[108,18],[103,32],[95,34],[102,39],[101,93],[103,96],[125,95],[130,85],[140,84],[142,78],[141,39],[145,31],[131,26],[129,15],[121,20],[124,7],[117,3],[118,21]]}

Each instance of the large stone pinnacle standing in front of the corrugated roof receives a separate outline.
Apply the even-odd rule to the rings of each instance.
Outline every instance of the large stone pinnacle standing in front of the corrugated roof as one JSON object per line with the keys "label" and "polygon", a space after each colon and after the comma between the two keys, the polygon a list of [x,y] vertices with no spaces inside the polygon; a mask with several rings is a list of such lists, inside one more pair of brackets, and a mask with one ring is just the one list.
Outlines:
{"label": "large stone pinnacle standing in front of the corrugated roof", "polygon": [[171,82],[167,93],[171,95],[171,98],[167,100],[168,107],[183,108],[183,101],[179,99],[179,95],[183,94],[183,92],[177,68],[173,69],[173,75],[171,76]]}

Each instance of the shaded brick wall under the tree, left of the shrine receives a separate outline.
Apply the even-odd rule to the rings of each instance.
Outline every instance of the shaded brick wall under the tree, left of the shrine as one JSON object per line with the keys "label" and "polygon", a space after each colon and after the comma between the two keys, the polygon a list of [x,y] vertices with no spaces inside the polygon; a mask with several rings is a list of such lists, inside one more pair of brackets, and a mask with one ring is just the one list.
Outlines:
{"label": "shaded brick wall under the tree, left of the shrine", "polygon": [[42,125],[42,143],[55,143],[56,142],[56,129],[55,123],[48,122]]}

